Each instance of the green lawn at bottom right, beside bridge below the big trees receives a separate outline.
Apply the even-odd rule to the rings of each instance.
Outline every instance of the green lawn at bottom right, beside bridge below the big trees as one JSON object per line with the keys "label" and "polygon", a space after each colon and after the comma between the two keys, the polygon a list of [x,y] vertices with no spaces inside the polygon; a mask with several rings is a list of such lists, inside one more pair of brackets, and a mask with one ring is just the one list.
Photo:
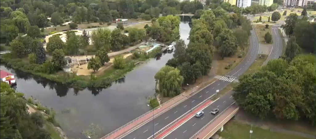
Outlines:
{"label": "green lawn at bottom right, beside bridge below the big trees", "polygon": [[[236,120],[230,120],[224,125],[224,130],[222,132],[218,131],[217,134],[226,139],[246,139],[250,137],[250,130],[251,125]],[[294,134],[284,134],[265,130],[257,126],[252,126],[252,131],[251,138],[253,139],[308,139],[301,136],[295,136]]]}

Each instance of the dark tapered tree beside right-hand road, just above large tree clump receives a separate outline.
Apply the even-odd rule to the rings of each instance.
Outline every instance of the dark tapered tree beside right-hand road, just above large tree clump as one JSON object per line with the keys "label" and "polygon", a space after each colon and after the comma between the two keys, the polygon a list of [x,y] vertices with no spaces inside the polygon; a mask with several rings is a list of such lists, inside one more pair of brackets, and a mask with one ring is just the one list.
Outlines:
{"label": "dark tapered tree beside right-hand road, just above large tree clump", "polygon": [[286,44],[285,56],[292,60],[296,55],[300,53],[300,47],[296,43],[296,38],[291,37]]}

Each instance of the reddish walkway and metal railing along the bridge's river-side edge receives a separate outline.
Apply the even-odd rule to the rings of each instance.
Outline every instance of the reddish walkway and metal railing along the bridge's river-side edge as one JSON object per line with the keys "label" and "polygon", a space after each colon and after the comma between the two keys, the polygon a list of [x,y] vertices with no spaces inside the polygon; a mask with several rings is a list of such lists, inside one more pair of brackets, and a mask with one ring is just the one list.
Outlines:
{"label": "reddish walkway and metal railing along the bridge's river-side edge", "polygon": [[[197,90],[197,91],[195,91],[195,92],[198,92],[198,91],[200,91],[200,90],[201,90],[201,89],[199,89],[199,90]],[[145,114],[143,114],[143,115],[137,117],[136,119],[132,120],[131,122],[126,123],[125,125],[121,126],[120,128],[118,128],[118,129],[112,131],[111,133],[107,134],[106,136],[101,137],[100,139],[106,139],[107,137],[109,137],[109,136],[111,136],[111,135],[113,135],[113,134],[119,132],[120,130],[122,130],[122,129],[125,128],[126,126],[128,126],[128,125],[130,125],[130,124],[136,122],[136,121],[139,120],[140,118],[145,117],[146,115],[148,115],[149,113],[151,113],[151,112],[157,110],[158,108],[161,108],[162,106],[164,106],[164,105],[166,105],[166,104],[172,102],[173,100],[175,100],[175,99],[177,99],[177,98],[179,98],[179,97],[183,97],[182,95],[184,95],[184,94],[185,94],[185,92],[179,94],[178,96],[176,96],[176,97],[174,97],[174,98],[168,100],[167,102],[161,104],[160,106],[158,106],[158,107],[156,107],[156,108],[154,108],[154,109],[152,109],[152,110],[146,112]],[[192,94],[192,93],[191,93],[191,94]],[[190,95],[191,95],[191,94],[190,94]],[[185,98],[185,97],[184,97],[184,98]],[[181,102],[182,102],[182,101],[181,101]],[[175,103],[175,104],[177,104],[177,103]],[[173,105],[170,105],[170,106],[173,106]],[[170,106],[169,106],[169,107],[170,107]],[[169,107],[167,107],[167,108],[169,108]],[[150,118],[151,118],[151,117],[150,117]]]}

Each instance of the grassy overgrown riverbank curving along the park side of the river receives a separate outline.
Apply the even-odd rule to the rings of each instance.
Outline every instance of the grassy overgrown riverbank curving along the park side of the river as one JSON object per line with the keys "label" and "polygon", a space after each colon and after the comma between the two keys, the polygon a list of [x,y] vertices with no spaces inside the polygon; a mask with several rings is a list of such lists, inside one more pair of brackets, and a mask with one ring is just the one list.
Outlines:
{"label": "grassy overgrown riverbank curving along the park side of the river", "polygon": [[70,73],[59,71],[54,74],[47,74],[42,70],[44,64],[30,64],[27,58],[15,59],[12,54],[4,54],[1,58],[1,63],[5,63],[7,66],[25,73],[31,73],[77,90],[83,90],[84,88],[107,88],[111,86],[113,81],[122,78],[126,73],[133,70],[134,67],[137,66],[136,63],[139,63],[139,61],[143,62],[149,58],[156,57],[157,54],[161,53],[161,47],[157,47],[148,54],[139,54],[138,50],[133,50],[130,53],[132,55],[123,60],[125,65],[123,69],[115,69],[112,67],[112,63],[110,63],[109,65],[106,65],[108,66],[106,69],[96,74],[97,76],[94,76],[94,73],[91,75],[77,75],[76,71]]}

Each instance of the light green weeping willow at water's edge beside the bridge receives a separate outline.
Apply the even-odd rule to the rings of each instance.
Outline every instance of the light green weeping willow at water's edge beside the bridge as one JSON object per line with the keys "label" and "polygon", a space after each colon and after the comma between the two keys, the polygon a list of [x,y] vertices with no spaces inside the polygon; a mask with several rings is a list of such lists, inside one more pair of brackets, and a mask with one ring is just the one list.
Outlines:
{"label": "light green weeping willow at water's edge beside the bridge", "polygon": [[156,92],[163,97],[174,97],[180,94],[183,77],[177,68],[162,67],[155,75]]}

